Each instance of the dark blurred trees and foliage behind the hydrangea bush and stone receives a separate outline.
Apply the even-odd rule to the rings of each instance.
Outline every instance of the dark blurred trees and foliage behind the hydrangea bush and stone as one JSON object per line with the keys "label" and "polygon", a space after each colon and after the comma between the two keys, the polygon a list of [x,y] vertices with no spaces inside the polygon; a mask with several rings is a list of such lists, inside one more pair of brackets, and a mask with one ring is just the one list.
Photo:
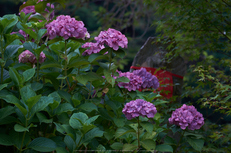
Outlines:
{"label": "dark blurred trees and foliage behind the hydrangea bush and stone", "polygon": [[[18,14],[22,3],[1,0],[0,15]],[[201,106],[200,111],[214,128],[208,137],[218,141],[216,145],[230,145],[231,1],[67,0],[65,9],[56,5],[55,14],[82,20],[91,37],[109,27],[125,34],[129,44],[127,56],[121,61],[123,71],[130,69],[148,37],[171,38],[176,47],[169,55],[181,55],[188,66],[182,102],[197,104],[198,109]]]}

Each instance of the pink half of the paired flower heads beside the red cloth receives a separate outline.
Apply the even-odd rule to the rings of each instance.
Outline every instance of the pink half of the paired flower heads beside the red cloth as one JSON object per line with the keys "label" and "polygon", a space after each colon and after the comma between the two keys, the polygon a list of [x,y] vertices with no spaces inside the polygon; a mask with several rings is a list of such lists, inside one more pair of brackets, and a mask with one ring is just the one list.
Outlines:
{"label": "pink half of the paired flower heads beside the red cloth", "polygon": [[[119,71],[118,71],[119,72]],[[124,87],[126,89],[128,89],[128,91],[136,91],[138,89],[141,88],[143,81],[142,78],[138,75],[135,75],[134,73],[131,72],[119,72],[119,77],[127,77],[130,82],[126,83],[126,82],[119,82],[118,86],[119,87]]]}

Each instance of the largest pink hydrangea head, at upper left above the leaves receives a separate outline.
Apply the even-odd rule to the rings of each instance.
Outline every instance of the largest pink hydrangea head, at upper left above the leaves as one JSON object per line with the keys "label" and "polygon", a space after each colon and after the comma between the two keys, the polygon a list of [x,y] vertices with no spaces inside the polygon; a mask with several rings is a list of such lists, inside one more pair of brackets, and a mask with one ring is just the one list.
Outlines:
{"label": "largest pink hydrangea head, at upper left above the leaves", "polygon": [[69,15],[58,16],[56,20],[47,24],[46,28],[49,39],[53,39],[56,36],[61,36],[65,40],[70,37],[85,39],[86,35],[88,35],[84,23],[71,18]]}

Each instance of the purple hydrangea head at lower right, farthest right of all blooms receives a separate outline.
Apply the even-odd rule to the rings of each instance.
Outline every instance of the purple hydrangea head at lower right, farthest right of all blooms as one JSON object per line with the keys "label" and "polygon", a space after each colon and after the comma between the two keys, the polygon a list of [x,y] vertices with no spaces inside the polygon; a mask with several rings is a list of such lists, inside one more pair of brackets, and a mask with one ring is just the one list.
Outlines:
{"label": "purple hydrangea head at lower right, farthest right of all blooms", "polygon": [[170,124],[180,126],[181,129],[189,130],[200,129],[204,124],[204,118],[194,106],[183,105],[181,108],[176,109],[172,116],[168,119]]}

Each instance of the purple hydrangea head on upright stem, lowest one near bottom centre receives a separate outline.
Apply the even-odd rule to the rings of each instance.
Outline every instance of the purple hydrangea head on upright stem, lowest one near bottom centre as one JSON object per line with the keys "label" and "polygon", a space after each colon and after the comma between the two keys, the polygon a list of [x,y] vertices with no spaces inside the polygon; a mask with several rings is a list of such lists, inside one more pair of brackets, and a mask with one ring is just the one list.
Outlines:
{"label": "purple hydrangea head on upright stem, lowest one near bottom centre", "polygon": [[138,116],[153,118],[157,113],[155,105],[143,99],[136,99],[126,103],[122,112],[128,120]]}

